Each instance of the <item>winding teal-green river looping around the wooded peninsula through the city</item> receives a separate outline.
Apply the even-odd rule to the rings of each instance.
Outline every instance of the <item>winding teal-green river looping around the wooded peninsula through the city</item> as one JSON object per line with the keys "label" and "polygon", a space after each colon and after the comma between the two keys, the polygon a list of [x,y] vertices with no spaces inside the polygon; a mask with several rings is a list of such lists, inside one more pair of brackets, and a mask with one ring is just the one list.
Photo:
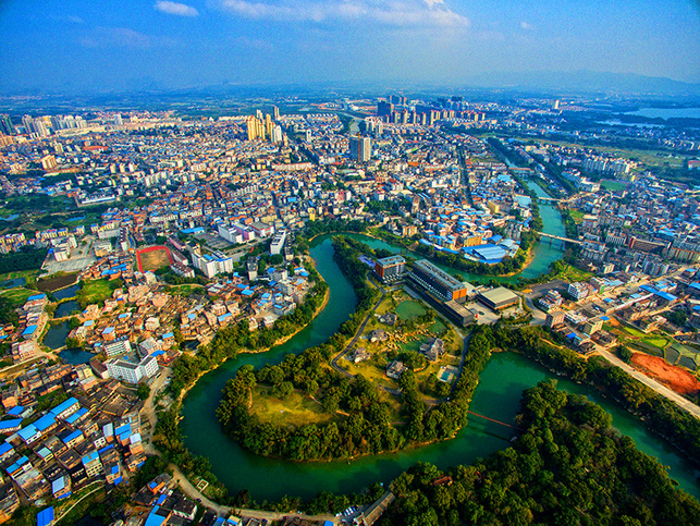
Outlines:
{"label": "winding teal-green river looping around the wooded peninsula through the city", "polygon": [[[532,185],[532,187],[536,192],[539,191],[538,195],[540,192],[545,195],[539,186]],[[563,235],[564,225],[556,209],[548,205],[541,205],[540,209],[544,231]],[[210,458],[213,473],[233,494],[247,489],[254,499],[262,501],[280,499],[285,494],[312,498],[321,490],[361,491],[374,481],[385,484],[391,481],[419,461],[446,468],[472,463],[477,458],[509,445],[511,428],[472,417],[469,425],[455,439],[437,444],[398,453],[367,456],[351,463],[346,461],[293,463],[250,454],[221,431],[216,417],[221,390],[242,365],[250,364],[254,367],[260,367],[268,363],[280,363],[285,354],[298,353],[322,343],[355,309],[353,289],[332,259],[331,237],[331,235],[317,237],[310,250],[319,272],[330,288],[330,299],[323,311],[306,329],[283,345],[263,354],[244,354],[205,375],[185,397],[181,421],[185,444],[194,454]],[[353,237],[360,238],[372,247],[400,252],[397,247],[382,241],[361,235],[353,235]],[[532,262],[523,270],[521,274],[526,278],[539,276],[561,255],[562,247],[558,242],[539,243],[535,247]],[[480,279],[480,277],[470,276],[465,278],[474,281]],[[509,279],[516,279],[516,277]],[[545,369],[523,356],[509,353],[494,355],[481,376],[471,409],[496,420],[511,421],[518,411],[523,390],[549,377],[551,375]],[[621,432],[630,436],[640,450],[668,466],[671,476],[686,491],[700,498],[698,482],[700,472],[689,466],[663,440],[649,433],[634,417],[616,405],[600,399],[594,391],[567,380],[558,380],[558,384],[567,391],[586,394],[600,403],[613,415],[613,425]]]}

